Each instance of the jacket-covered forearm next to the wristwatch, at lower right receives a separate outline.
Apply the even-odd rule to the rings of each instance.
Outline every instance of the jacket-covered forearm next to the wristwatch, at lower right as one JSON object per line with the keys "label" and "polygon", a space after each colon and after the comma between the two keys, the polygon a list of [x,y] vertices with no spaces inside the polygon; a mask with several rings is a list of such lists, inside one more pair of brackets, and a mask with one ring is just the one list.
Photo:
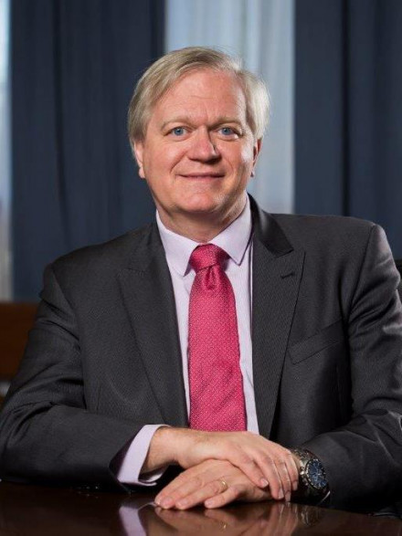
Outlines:
{"label": "jacket-covered forearm next to the wristwatch, at lower right", "polygon": [[379,510],[402,496],[400,415],[378,411],[303,444],[323,463],[331,506]]}

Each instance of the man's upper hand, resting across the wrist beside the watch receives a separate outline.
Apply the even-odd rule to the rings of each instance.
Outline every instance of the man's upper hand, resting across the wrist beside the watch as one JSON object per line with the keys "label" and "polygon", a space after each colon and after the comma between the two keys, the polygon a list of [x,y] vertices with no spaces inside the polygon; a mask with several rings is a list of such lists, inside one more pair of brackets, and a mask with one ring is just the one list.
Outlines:
{"label": "man's upper hand, resting across the wrist beside the watch", "polygon": [[207,459],[227,460],[255,486],[265,489],[269,485],[272,499],[290,500],[291,490],[298,487],[299,469],[291,452],[251,432],[159,428],[143,471],[153,470],[158,462],[159,467],[177,463],[186,469]]}

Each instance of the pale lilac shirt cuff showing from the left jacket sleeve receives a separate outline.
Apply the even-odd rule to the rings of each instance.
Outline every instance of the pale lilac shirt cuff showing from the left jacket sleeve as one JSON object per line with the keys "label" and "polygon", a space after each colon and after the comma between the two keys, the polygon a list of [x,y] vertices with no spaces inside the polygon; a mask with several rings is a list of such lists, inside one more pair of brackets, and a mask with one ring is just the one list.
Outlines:
{"label": "pale lilac shirt cuff showing from the left jacket sleeve", "polygon": [[166,425],[145,425],[132,439],[125,454],[122,454],[122,462],[117,470],[119,482],[138,486],[153,486],[162,477],[166,468],[157,469],[152,473],[147,473],[146,476],[140,475],[153,434],[162,426]]}

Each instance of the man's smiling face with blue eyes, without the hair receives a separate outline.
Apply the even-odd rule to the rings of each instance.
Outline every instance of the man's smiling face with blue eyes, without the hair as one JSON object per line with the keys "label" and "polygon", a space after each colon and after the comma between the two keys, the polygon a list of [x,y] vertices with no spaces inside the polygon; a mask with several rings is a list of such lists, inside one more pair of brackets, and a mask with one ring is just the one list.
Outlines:
{"label": "man's smiling face with blue eyes, without the hair", "polygon": [[241,212],[259,153],[246,117],[238,80],[210,69],[185,75],[156,103],[134,149],[165,226]]}

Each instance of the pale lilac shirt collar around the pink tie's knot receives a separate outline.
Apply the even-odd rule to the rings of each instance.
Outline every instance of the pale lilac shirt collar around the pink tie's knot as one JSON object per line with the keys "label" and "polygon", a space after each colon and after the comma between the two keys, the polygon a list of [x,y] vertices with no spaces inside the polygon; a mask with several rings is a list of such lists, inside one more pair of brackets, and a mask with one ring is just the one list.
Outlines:
{"label": "pale lilac shirt collar around the pink tie's knot", "polygon": [[[156,223],[161,235],[166,259],[170,266],[181,276],[185,276],[188,270],[188,261],[194,249],[199,245],[198,242],[177,235],[164,226],[162,220],[156,211]],[[222,247],[232,260],[240,265],[243,261],[244,254],[249,244],[251,236],[252,221],[251,210],[249,206],[249,196],[247,195],[246,205],[242,213],[226,229],[219,233],[215,238],[209,241],[209,244],[215,244]]]}

